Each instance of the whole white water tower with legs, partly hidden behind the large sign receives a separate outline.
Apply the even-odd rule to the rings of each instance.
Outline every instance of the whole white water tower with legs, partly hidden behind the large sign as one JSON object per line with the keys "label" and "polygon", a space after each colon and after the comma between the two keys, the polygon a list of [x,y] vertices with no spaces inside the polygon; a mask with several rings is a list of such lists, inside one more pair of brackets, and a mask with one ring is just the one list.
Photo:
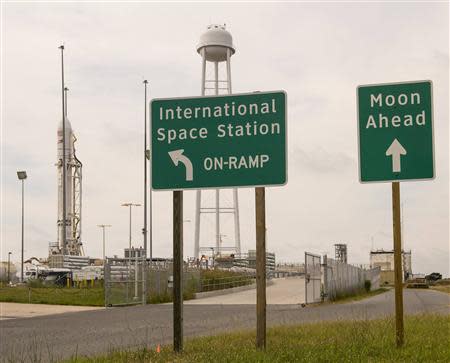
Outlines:
{"label": "whole white water tower with legs, partly hidden behind the large sign", "polygon": [[[202,57],[202,96],[231,94],[231,56],[235,53],[233,46],[233,38],[225,29],[225,25],[209,25],[206,32],[200,37],[200,43],[197,46],[197,52]],[[208,72],[212,68],[210,72]],[[212,74],[207,76],[207,74]],[[239,201],[238,191],[236,188],[232,190],[232,205],[226,206],[221,203],[221,191],[216,189],[215,206],[208,207],[202,204],[202,193],[208,191],[197,190],[196,206],[195,206],[195,246],[194,257],[200,257],[200,226],[201,217],[206,213],[215,214],[215,247],[214,253],[220,254],[224,248],[222,246],[221,233],[221,215],[233,214],[234,216],[234,248],[232,251],[237,255],[241,254],[241,236],[239,230]],[[222,191],[222,194],[225,191]],[[208,238],[208,241],[210,239]],[[204,247],[205,248],[205,247]],[[211,247],[206,247],[211,248]]]}

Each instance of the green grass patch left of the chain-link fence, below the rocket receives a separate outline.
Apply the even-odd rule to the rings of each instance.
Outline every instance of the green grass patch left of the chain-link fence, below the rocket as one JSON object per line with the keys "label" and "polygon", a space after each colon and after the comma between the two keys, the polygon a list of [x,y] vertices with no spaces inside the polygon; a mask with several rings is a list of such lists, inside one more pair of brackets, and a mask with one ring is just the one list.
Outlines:
{"label": "green grass patch left of the chain-link fence, below the rocket", "polygon": [[0,301],[51,305],[105,306],[104,292],[101,287],[4,287],[0,288]]}

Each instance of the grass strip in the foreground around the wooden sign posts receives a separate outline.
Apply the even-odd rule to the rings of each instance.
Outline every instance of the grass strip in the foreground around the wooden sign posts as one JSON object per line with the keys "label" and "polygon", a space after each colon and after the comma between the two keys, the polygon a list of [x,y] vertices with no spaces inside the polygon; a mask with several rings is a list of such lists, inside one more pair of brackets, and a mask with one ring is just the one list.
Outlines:
{"label": "grass strip in the foreground around the wooden sign posts", "polygon": [[266,352],[255,333],[187,340],[182,354],[171,346],[72,358],[66,363],[104,362],[445,362],[450,361],[450,316],[406,317],[405,346],[395,347],[394,320],[328,322],[268,330]]}

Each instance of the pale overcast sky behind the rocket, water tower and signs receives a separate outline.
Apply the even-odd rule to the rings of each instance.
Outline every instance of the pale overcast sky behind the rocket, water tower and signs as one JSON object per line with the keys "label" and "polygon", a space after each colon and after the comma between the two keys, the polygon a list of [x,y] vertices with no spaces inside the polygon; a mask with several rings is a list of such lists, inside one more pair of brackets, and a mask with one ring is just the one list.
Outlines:
{"label": "pale overcast sky behind the rocket, water tower and signs", "polygon": [[[392,249],[391,185],[358,182],[356,87],[430,79],[436,179],[401,183],[403,232],[413,272],[449,273],[448,3],[4,3],[1,99],[1,253],[20,259],[20,184],[26,180],[25,258],[56,241],[56,130],[60,53],[66,47],[68,114],[83,162],[83,241],[101,256],[97,224],[112,224],[107,254],[128,244],[128,210],[143,201],[143,84],[150,97],[200,94],[196,45],[211,22],[233,35],[233,92],[285,90],[288,170],[268,188],[268,249],[301,262],[304,252],[368,263]],[[226,194],[226,193],[225,193]],[[231,200],[231,197],[228,198]],[[213,203],[212,195],[206,195]],[[185,256],[193,255],[195,192],[185,193]],[[153,193],[155,256],[172,254],[170,192]],[[254,190],[240,190],[243,250],[255,247]],[[142,245],[142,207],[133,212]],[[214,244],[214,219],[202,221]],[[223,219],[224,244],[233,242]]]}

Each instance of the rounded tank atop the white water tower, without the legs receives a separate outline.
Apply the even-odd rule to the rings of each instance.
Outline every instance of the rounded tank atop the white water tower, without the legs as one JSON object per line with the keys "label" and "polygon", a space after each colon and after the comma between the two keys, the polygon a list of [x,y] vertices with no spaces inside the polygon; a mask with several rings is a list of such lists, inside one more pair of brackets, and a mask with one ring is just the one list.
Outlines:
{"label": "rounded tank atop the white water tower, without the legs", "polygon": [[225,25],[212,24],[200,36],[197,52],[202,54],[205,49],[206,60],[209,62],[223,62],[227,60],[227,49],[234,54],[233,37],[225,30]]}

